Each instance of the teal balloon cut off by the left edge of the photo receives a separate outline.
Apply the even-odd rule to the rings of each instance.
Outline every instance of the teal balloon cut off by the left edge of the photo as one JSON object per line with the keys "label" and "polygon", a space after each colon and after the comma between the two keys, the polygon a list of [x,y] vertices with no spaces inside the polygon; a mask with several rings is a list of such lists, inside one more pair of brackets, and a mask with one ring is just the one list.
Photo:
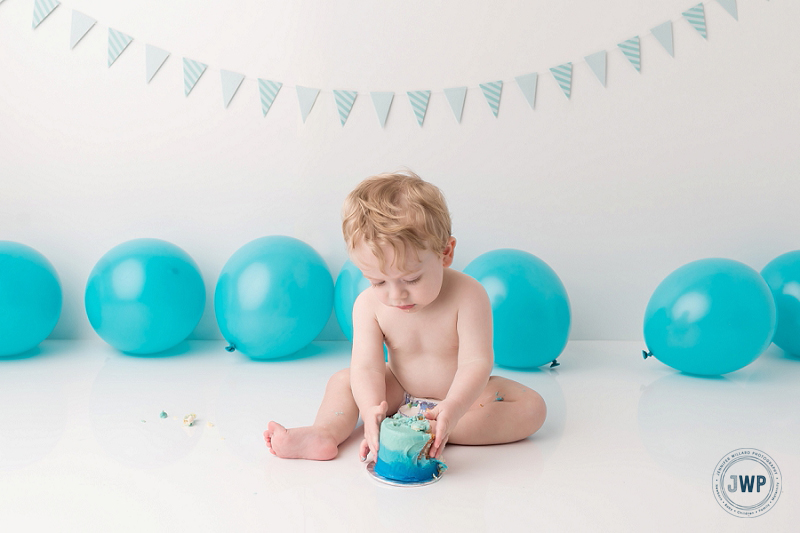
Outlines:
{"label": "teal balloon cut off by the left edge of the photo", "polygon": [[0,241],[0,356],[27,352],[47,338],[61,303],[50,261],[30,246]]}

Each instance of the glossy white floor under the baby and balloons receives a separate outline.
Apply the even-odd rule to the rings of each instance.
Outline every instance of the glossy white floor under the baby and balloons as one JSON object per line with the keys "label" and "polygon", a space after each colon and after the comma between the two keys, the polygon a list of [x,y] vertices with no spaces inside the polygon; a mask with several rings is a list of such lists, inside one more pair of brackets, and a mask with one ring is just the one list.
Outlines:
{"label": "glossy white floor under the baby and balloons", "polygon": [[[724,378],[677,373],[642,343],[571,342],[556,369],[496,373],[538,390],[534,437],[448,446],[432,485],[371,479],[354,434],[330,462],[271,456],[270,419],[310,423],[347,343],[252,362],[224,342],[133,357],[101,341],[46,341],[0,360],[2,531],[796,531],[800,360],[772,346]],[[166,419],[159,418],[166,411]],[[182,418],[195,413],[193,427]],[[737,448],[778,464],[757,518],[716,502]]]}

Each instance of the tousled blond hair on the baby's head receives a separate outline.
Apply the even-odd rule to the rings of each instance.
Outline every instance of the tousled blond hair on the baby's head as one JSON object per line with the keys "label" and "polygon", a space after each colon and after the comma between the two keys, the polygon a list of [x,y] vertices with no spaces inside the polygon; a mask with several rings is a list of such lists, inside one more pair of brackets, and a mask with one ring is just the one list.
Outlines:
{"label": "tousled blond hair on the baby's head", "polygon": [[352,252],[359,242],[369,246],[386,266],[381,245],[394,250],[393,263],[405,266],[408,249],[444,252],[451,235],[444,195],[411,171],[369,177],[347,196],[342,208],[342,233]]}

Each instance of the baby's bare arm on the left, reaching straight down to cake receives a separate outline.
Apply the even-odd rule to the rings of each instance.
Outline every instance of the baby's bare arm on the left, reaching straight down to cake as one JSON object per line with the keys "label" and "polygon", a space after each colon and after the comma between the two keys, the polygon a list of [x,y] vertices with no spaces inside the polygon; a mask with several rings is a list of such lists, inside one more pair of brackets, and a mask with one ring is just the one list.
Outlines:
{"label": "baby's bare arm on the left, reaching straight down to cake", "polygon": [[353,354],[350,359],[350,388],[364,421],[364,442],[359,450],[362,460],[370,451],[378,452],[378,432],[388,410],[383,332],[369,299],[370,295],[364,291],[353,305]]}

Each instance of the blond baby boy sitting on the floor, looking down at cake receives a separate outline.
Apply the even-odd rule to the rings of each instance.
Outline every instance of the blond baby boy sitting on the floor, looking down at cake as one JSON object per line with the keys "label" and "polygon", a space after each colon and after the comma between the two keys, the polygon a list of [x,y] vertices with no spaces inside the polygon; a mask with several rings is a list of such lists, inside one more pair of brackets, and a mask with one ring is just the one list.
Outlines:
{"label": "blond baby boy sitting on the floor, looking down at cake", "polygon": [[377,454],[381,421],[408,403],[427,407],[436,458],[448,442],[500,444],[535,433],[545,403],[491,375],[491,304],[480,283],[449,268],[456,240],[439,189],[411,172],[368,178],[347,197],[342,229],[350,259],[371,284],[353,306],[350,368],[328,381],[313,425],[269,423],[270,452],[333,459],[360,414],[366,460]]}

